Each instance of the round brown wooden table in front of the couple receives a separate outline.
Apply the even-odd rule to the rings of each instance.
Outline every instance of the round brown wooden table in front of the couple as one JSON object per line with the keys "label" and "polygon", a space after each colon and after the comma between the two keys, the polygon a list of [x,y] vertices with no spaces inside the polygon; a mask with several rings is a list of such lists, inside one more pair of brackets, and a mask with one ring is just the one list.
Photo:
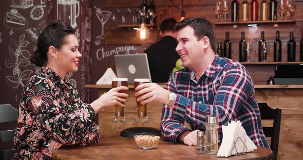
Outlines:
{"label": "round brown wooden table in front of the couple", "polygon": [[215,154],[196,154],[196,147],[174,144],[160,139],[159,144],[149,150],[141,149],[134,138],[108,137],[100,139],[98,144],[86,147],[70,147],[55,150],[54,159],[271,159],[273,152],[258,147],[253,152],[240,155],[216,157]]}

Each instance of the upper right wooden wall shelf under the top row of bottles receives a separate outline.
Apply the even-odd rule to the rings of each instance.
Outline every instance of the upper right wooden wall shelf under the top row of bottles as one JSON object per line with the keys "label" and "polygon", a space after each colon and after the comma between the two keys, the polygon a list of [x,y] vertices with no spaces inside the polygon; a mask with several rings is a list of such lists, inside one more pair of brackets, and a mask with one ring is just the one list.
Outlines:
{"label": "upper right wooden wall shelf under the top row of bottles", "polygon": [[253,25],[253,24],[273,24],[274,27],[278,27],[278,24],[295,24],[294,20],[280,20],[280,21],[242,21],[242,22],[214,22],[214,25],[233,25],[237,28],[237,25]]}

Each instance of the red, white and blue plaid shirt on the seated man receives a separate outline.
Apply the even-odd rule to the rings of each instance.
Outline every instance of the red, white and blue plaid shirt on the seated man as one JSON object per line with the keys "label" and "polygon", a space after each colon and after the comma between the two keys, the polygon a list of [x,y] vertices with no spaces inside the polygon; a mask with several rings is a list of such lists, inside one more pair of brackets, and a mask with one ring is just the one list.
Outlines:
{"label": "red, white and blue plaid shirt on the seated man", "polygon": [[169,77],[166,89],[177,93],[172,107],[163,106],[160,129],[163,137],[177,143],[178,135],[191,125],[192,130],[205,131],[205,116],[218,117],[218,136],[222,125],[239,120],[257,146],[269,148],[261,127],[261,117],[254,85],[248,71],[238,62],[217,54],[196,81],[190,69],[182,69]]}

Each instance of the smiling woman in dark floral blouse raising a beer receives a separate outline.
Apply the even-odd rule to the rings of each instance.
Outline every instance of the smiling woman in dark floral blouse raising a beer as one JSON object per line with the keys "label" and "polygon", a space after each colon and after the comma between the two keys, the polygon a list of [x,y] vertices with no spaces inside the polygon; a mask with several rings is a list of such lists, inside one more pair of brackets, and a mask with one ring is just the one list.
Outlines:
{"label": "smiling woman in dark floral blouse raising a beer", "polygon": [[14,159],[52,159],[51,153],[63,145],[85,146],[98,143],[99,127],[94,123],[98,111],[126,102],[118,93],[127,87],[112,88],[91,104],[82,103],[78,91],[64,78],[77,72],[78,39],[70,25],[53,21],[37,39],[31,62],[42,67],[24,87],[14,138]]}

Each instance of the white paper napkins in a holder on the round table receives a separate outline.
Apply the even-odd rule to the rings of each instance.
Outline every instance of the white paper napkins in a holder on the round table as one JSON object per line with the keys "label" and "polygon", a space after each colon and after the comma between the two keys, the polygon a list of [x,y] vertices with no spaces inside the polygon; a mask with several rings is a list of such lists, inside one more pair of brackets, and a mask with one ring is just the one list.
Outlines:
{"label": "white paper napkins in a holder on the round table", "polygon": [[222,143],[217,156],[228,157],[233,154],[252,152],[257,149],[256,145],[246,134],[240,121],[232,121],[228,126],[222,126],[222,133]]}

